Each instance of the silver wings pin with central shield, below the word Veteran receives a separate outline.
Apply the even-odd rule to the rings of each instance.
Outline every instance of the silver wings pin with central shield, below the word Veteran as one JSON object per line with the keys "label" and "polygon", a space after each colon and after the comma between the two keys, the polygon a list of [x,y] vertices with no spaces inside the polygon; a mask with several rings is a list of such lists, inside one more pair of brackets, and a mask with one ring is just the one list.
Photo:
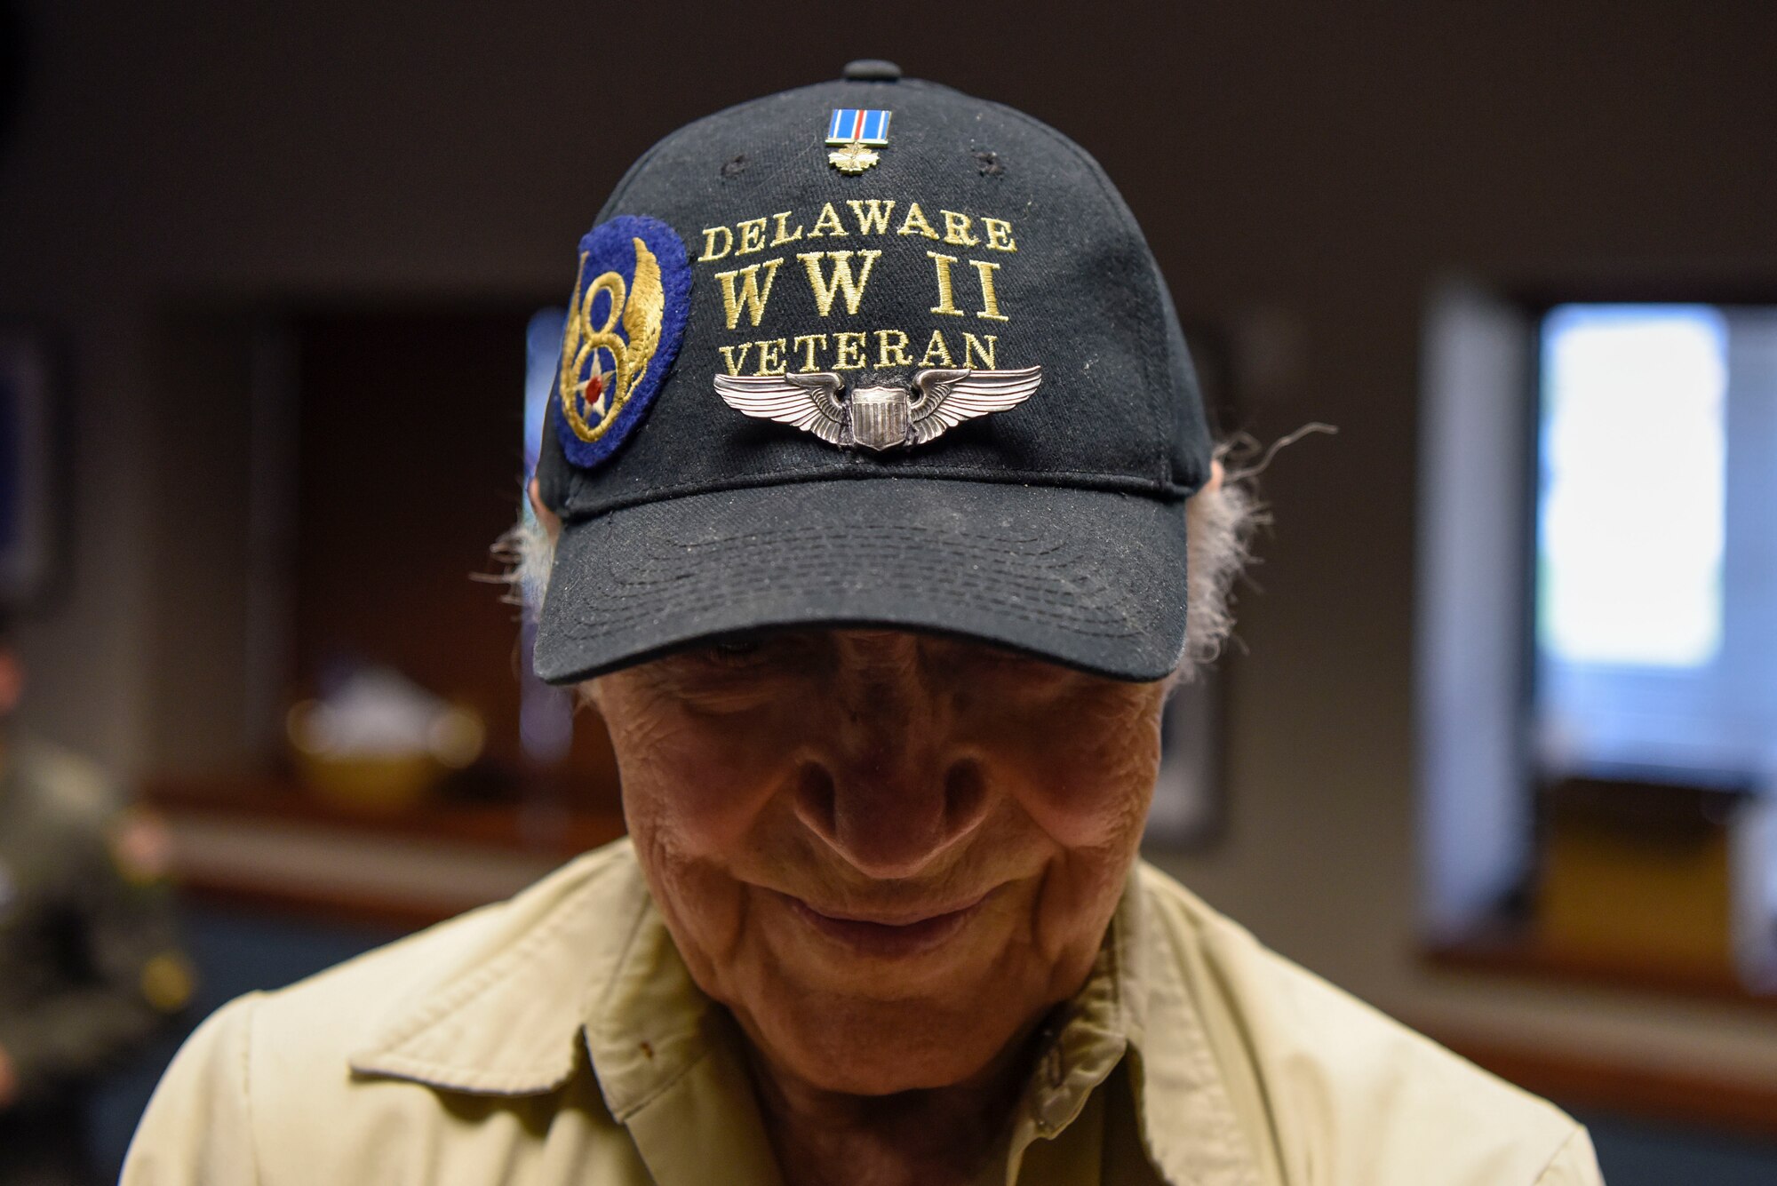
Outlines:
{"label": "silver wings pin with central shield, below the word Veteran", "polygon": [[[828,444],[896,449],[935,440],[990,412],[1015,408],[1043,382],[1043,368],[1018,371],[913,371],[913,389],[857,387],[833,371],[812,375],[718,375],[716,394],[746,415],[791,424]],[[917,392],[917,394],[915,394]]]}

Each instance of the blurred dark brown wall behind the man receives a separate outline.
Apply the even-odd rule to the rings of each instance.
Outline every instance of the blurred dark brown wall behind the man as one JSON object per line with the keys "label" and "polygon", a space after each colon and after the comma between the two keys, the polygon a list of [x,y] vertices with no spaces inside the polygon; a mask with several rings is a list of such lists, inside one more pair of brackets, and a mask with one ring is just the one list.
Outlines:
{"label": "blurred dark brown wall behind the man", "polygon": [[[1239,604],[1228,824],[1169,868],[1450,1040],[1777,1090],[1768,1005],[1418,959],[1411,689],[1429,293],[1452,275],[1777,277],[1777,7],[57,0],[21,16],[0,312],[60,343],[73,447],[60,597],[21,632],[41,731],[126,776],[263,744],[243,694],[247,414],[233,380],[203,378],[252,357],[210,328],[288,302],[562,300],[576,238],[652,140],[880,55],[1098,156],[1182,312],[1228,343],[1224,428],[1340,428],[1265,476],[1276,526],[1263,591]],[[515,407],[517,382],[487,398]],[[517,474],[515,435],[485,447]],[[487,497],[501,520],[515,481]],[[490,609],[487,629],[505,620]]]}

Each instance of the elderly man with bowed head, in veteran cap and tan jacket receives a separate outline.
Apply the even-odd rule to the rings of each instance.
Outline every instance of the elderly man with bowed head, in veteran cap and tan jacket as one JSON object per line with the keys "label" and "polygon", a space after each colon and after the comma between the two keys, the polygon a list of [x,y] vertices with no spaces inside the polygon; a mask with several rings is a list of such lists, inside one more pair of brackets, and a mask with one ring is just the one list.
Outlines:
{"label": "elderly man with bowed head, in veteran cap and tan jacket", "polygon": [[236,1001],[126,1182],[1598,1182],[1555,1108],[1137,863],[1244,504],[1079,147],[887,62],[581,240],[537,668],[631,838]]}

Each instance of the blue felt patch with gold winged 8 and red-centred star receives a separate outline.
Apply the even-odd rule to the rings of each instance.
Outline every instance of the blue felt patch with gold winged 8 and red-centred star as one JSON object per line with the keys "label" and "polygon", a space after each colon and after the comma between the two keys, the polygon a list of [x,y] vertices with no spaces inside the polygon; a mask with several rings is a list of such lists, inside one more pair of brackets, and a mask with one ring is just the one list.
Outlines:
{"label": "blue felt patch with gold winged 8 and red-centred star", "polygon": [[569,462],[599,465],[636,430],[689,311],[691,261],[670,225],[622,215],[586,233],[551,392]]}

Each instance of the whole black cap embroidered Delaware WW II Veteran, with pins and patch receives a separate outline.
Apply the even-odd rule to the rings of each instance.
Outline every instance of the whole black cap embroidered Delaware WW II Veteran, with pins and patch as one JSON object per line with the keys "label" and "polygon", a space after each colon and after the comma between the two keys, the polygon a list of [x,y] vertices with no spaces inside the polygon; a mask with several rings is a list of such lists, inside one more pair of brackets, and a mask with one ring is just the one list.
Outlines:
{"label": "whole black cap embroidered Delaware WW II Veteran, with pins and patch", "polygon": [[1162,678],[1208,476],[1171,296],[1098,163],[853,62],[668,135],[579,241],[537,673],[853,625]]}

